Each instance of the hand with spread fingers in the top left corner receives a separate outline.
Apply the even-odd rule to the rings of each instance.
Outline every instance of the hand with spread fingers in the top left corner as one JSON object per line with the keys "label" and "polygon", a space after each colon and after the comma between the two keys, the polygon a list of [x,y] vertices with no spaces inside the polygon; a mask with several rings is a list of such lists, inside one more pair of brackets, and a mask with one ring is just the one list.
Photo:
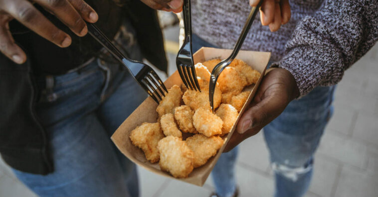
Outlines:
{"label": "hand with spread fingers in the top left corner", "polygon": [[[84,20],[96,22],[97,13],[84,0],[33,0],[54,14],[76,35],[84,36],[88,29]],[[17,64],[26,61],[22,49],[14,43],[9,21],[20,23],[59,47],[68,47],[71,37],[53,25],[29,0],[0,0],[0,52]]]}

